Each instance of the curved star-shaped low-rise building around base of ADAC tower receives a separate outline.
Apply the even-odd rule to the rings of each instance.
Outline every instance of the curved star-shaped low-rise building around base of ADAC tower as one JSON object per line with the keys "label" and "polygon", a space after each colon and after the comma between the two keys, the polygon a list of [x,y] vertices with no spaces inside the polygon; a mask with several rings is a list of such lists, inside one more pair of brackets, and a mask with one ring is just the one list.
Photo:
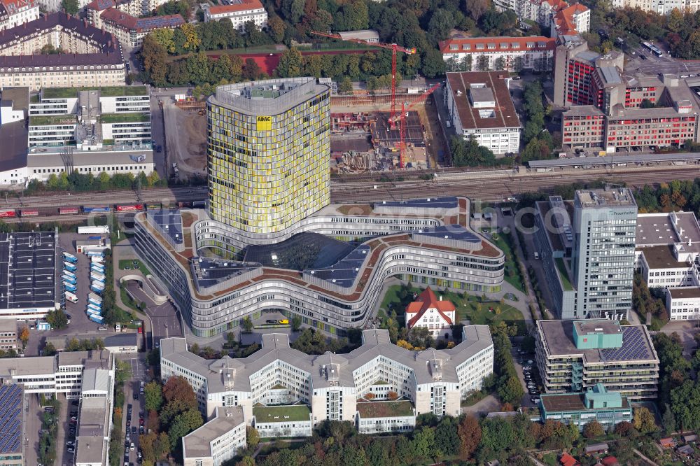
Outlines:
{"label": "curved star-shaped low-rise building around base of ADAC tower", "polygon": [[[468,217],[468,199],[456,197],[326,206],[278,241],[255,244],[201,211],[148,211],[135,217],[135,246],[199,337],[267,309],[344,335],[365,325],[390,276],[499,291],[505,256],[468,229]],[[203,257],[204,249],[232,258]]]}

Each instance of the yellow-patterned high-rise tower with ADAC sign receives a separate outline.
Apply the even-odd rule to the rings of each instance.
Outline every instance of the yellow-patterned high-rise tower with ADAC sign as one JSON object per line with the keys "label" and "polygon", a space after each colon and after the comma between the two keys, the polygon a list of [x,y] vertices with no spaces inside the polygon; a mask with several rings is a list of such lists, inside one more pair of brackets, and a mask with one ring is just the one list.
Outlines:
{"label": "yellow-patterned high-rise tower with ADAC sign", "polygon": [[315,78],[224,85],[207,101],[209,214],[285,230],[330,203],[330,88]]}

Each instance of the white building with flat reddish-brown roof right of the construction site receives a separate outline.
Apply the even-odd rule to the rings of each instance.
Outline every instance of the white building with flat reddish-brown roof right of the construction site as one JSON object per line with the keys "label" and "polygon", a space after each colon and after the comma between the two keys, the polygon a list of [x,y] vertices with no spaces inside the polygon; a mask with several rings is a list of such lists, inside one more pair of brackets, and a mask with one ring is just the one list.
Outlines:
{"label": "white building with flat reddish-brown roof right of the construction site", "polygon": [[445,106],[456,134],[495,154],[517,153],[520,119],[499,71],[447,73]]}

